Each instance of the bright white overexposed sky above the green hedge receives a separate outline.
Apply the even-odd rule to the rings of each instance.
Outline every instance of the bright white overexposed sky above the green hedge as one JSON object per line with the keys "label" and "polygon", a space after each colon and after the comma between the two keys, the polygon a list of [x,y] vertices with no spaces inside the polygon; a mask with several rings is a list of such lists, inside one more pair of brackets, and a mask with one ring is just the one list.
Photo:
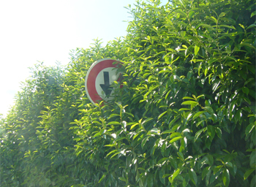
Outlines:
{"label": "bright white overexposed sky above the green hedge", "polygon": [[72,49],[124,37],[125,20],[132,20],[128,4],[135,0],[0,1],[0,114],[7,114],[38,61],[66,65]]}

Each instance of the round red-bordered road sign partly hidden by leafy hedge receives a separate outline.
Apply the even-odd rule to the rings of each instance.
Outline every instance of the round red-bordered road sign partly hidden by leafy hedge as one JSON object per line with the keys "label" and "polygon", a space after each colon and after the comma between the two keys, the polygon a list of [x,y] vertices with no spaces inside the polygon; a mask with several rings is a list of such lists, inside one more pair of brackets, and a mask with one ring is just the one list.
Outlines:
{"label": "round red-bordered road sign partly hidden by leafy hedge", "polygon": [[100,100],[113,99],[113,81],[121,80],[121,72],[117,72],[121,62],[104,58],[94,62],[86,75],[86,93],[90,101],[95,104]]}

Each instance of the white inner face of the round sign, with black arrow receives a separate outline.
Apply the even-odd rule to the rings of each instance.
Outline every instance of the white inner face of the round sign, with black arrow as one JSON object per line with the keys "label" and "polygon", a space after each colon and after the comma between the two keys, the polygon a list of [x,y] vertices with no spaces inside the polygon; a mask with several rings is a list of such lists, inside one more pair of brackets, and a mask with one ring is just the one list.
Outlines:
{"label": "white inner face of the round sign, with black arrow", "polygon": [[99,74],[96,77],[96,91],[99,94],[99,96],[104,99],[105,101],[110,101],[113,99],[113,91],[111,84],[118,80],[118,77],[120,77],[121,72],[116,75],[116,69],[113,67],[107,67],[105,69],[102,69],[102,71],[99,72]]}

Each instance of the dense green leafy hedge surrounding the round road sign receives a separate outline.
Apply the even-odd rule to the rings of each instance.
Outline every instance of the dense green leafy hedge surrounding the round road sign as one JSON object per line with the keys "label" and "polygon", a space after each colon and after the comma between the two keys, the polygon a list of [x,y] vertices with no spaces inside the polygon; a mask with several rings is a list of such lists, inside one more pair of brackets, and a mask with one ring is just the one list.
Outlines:
{"label": "dense green leafy hedge surrounding the round road sign", "polygon": [[[34,67],[1,118],[1,186],[255,186],[255,0],[159,4],[127,7],[123,40]],[[96,107],[102,58],[124,86]]]}

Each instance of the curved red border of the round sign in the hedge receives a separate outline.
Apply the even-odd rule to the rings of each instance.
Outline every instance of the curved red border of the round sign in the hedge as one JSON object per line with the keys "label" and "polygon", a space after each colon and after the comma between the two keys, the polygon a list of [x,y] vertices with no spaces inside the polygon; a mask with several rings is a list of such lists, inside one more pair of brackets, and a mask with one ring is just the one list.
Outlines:
{"label": "curved red border of the round sign in the hedge", "polygon": [[108,67],[115,68],[118,66],[118,64],[113,64],[113,62],[117,62],[118,64],[121,63],[113,59],[104,58],[102,60],[94,62],[94,64],[91,65],[89,71],[87,72],[86,93],[93,104],[97,103],[97,101],[99,100],[102,100],[102,98],[98,95],[95,87],[96,77],[99,74],[99,72],[102,71],[102,69],[105,69]]}

